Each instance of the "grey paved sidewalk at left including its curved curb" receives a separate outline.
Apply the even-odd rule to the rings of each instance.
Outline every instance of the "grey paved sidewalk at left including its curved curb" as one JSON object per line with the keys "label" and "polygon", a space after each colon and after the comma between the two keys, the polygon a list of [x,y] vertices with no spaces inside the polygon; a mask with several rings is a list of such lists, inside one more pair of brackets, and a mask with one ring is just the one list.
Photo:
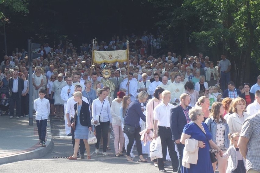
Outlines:
{"label": "grey paved sidewalk at left including its curved curb", "polygon": [[37,125],[33,116],[33,125],[29,117],[9,118],[0,116],[0,164],[39,158],[53,147],[50,122],[47,123],[46,147],[39,145]]}

